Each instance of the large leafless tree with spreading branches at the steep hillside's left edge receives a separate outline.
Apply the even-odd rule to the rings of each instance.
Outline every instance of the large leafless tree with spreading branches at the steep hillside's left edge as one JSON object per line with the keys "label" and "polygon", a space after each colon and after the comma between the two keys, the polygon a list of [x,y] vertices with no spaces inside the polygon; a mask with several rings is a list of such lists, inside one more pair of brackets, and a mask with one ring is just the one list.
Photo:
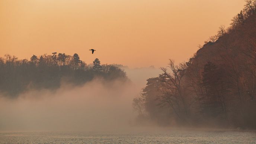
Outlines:
{"label": "large leafless tree with spreading branches at the steep hillside's left edge", "polygon": [[[171,73],[167,72],[167,68],[171,70]],[[160,79],[163,82],[163,87],[160,89],[162,95],[159,96],[158,100],[160,105],[169,105],[180,119],[187,121],[188,106],[182,86],[186,64],[175,65],[174,61],[170,60],[167,68],[161,68],[163,74],[160,75]],[[183,112],[185,112],[185,118],[182,115]]]}

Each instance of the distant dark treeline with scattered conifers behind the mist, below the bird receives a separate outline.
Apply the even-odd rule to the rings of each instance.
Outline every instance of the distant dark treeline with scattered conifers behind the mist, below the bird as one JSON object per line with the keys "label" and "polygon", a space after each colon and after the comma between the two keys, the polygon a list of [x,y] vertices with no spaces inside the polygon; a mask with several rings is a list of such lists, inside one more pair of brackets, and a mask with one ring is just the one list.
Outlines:
{"label": "distant dark treeline with scattered conifers behind the mist, below the bird", "polygon": [[101,65],[98,58],[93,65],[80,60],[78,54],[33,55],[30,60],[18,60],[9,54],[0,57],[0,93],[16,97],[28,89],[57,89],[61,82],[84,84],[94,77],[105,80],[127,80],[118,65]]}

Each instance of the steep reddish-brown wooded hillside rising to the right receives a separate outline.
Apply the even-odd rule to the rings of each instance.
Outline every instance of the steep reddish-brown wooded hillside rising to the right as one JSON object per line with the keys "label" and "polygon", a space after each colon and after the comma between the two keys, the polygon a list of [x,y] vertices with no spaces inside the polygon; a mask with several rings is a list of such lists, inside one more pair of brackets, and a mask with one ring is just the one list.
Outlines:
{"label": "steep reddish-brown wooded hillside rising to the right", "polygon": [[133,100],[138,122],[256,129],[256,0],[214,37],[147,80]]}

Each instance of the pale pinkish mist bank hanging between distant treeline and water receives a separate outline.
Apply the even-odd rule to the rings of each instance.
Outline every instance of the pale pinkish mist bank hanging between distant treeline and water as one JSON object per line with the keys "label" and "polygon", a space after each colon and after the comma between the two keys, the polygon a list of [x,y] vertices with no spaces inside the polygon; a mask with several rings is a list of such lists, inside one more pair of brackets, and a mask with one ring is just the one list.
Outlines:
{"label": "pale pinkish mist bank hanging between distant treeline and water", "polygon": [[1,96],[0,131],[125,130],[137,115],[132,109],[132,99],[148,77],[158,75],[157,71],[129,69],[127,75],[131,81],[127,82],[96,78],[83,86],[63,82],[55,92],[30,90],[15,99]]}

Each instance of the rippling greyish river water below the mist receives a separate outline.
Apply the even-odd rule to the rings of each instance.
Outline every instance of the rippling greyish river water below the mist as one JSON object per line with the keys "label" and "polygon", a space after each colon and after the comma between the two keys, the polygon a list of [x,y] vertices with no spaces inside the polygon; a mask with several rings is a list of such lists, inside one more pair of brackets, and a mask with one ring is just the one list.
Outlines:
{"label": "rippling greyish river water below the mist", "polygon": [[256,144],[255,131],[164,130],[136,132],[0,132],[0,143],[241,143]]}

